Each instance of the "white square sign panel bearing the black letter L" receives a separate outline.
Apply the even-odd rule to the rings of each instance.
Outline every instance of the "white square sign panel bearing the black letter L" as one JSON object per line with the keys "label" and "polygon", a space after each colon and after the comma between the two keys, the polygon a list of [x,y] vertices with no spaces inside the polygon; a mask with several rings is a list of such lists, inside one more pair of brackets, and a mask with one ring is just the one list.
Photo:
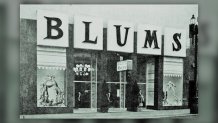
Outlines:
{"label": "white square sign panel bearing the black letter L", "polygon": [[74,16],[74,48],[103,50],[103,21]]}

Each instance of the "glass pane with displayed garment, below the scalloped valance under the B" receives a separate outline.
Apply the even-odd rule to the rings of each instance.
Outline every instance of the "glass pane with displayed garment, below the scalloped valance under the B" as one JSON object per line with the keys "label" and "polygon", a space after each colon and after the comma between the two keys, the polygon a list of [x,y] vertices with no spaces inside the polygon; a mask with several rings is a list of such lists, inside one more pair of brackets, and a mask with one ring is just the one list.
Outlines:
{"label": "glass pane with displayed garment, below the scalloped valance under the B", "polygon": [[37,69],[37,106],[65,107],[65,70]]}

